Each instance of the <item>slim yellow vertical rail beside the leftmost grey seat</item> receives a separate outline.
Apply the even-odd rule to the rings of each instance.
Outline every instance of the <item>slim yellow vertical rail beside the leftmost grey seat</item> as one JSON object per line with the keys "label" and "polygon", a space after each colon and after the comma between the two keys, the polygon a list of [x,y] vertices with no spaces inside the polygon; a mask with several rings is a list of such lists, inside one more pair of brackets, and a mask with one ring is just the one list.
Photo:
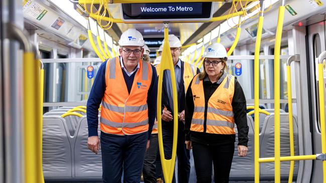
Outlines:
{"label": "slim yellow vertical rail beside the leftmost grey seat", "polygon": [[42,137],[43,137],[43,89],[44,89],[44,66],[41,60],[38,60],[39,63],[41,63],[41,69],[40,69],[40,104],[39,104],[39,108],[40,108],[40,112],[39,112],[39,116],[40,116],[40,123],[39,123],[39,127],[38,127],[38,172],[40,173],[41,176],[38,176],[39,178],[41,178],[40,181],[41,183],[44,183],[44,175],[43,175],[43,166],[42,166]]}

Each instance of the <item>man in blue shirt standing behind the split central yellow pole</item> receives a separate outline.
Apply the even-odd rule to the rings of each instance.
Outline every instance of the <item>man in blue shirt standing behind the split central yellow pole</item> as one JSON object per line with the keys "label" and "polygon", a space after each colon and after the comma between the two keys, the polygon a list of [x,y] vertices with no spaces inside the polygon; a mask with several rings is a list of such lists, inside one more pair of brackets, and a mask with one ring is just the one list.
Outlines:
{"label": "man in blue shirt standing behind the split central yellow pole", "polygon": [[[164,42],[164,41],[163,41]],[[177,144],[177,158],[178,158],[178,180],[179,182],[189,182],[190,176],[190,151],[185,145],[184,119],[185,119],[185,98],[187,88],[193,79],[194,75],[199,73],[199,69],[188,63],[182,61],[180,56],[181,42],[180,39],[174,35],[169,35],[169,44],[171,47],[173,64],[175,66],[175,75],[177,81],[178,93],[178,144]],[[165,60],[162,60],[165,61]],[[156,65],[156,71],[159,70],[160,64]],[[160,76],[160,75],[159,75]],[[164,144],[164,153],[166,159],[171,159],[172,144],[173,144],[173,95],[172,82],[170,70],[165,70],[163,74],[162,84],[162,136]],[[176,182],[174,175],[173,182]]]}

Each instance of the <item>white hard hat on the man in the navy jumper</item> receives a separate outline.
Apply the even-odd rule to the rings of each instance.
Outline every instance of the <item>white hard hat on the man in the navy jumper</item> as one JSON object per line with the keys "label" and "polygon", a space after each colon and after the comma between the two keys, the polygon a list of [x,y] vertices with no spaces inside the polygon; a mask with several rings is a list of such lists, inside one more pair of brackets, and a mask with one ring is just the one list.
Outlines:
{"label": "white hard hat on the man in the navy jumper", "polygon": [[120,46],[143,46],[145,44],[141,33],[135,28],[129,28],[121,34]]}

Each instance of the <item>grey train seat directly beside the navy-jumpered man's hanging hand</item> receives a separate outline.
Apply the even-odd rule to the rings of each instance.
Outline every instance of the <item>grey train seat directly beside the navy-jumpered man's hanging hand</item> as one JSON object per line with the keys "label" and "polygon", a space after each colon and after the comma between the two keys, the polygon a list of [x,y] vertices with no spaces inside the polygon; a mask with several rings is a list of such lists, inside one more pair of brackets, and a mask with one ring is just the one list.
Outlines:
{"label": "grey train seat directly beside the navy-jumpered man's hanging hand", "polygon": [[[98,135],[100,126],[98,127]],[[77,126],[76,142],[74,143],[75,177],[102,177],[101,149],[97,154],[87,148],[87,118],[83,116]]]}

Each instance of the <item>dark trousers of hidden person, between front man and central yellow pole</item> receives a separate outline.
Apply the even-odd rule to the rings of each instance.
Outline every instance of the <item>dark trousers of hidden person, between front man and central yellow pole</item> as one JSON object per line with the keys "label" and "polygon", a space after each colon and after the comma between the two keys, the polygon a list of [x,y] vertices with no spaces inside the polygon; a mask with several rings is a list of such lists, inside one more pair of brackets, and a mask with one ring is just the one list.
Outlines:
{"label": "dark trousers of hidden person, between front man and central yellow pole", "polygon": [[156,153],[157,153],[158,138],[157,133],[151,134],[149,148],[145,152],[144,165],[142,167],[142,176],[145,183],[156,183]]}

